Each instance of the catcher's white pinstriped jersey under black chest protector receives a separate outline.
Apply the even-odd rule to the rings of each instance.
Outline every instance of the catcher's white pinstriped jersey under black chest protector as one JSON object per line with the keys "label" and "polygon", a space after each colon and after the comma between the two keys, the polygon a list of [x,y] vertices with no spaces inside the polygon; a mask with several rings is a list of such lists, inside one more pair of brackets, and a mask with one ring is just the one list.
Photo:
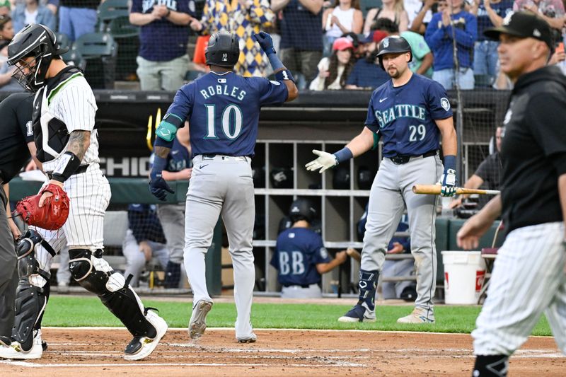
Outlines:
{"label": "catcher's white pinstriped jersey under black chest protector", "polygon": [[[75,130],[91,132],[91,144],[81,161],[81,164],[98,163],[98,131],[94,129],[95,115],[98,107],[91,87],[83,74],[76,70],[67,71],[62,80],[53,86],[42,88],[34,100],[34,114],[40,117],[40,122],[34,122],[39,136],[36,136],[38,150],[45,152],[43,167],[46,171],[53,170],[59,161],[59,156],[67,149],[69,134]],[[67,129],[61,129],[66,127]],[[59,132],[58,131],[59,128]],[[34,133],[37,135],[36,129]]]}

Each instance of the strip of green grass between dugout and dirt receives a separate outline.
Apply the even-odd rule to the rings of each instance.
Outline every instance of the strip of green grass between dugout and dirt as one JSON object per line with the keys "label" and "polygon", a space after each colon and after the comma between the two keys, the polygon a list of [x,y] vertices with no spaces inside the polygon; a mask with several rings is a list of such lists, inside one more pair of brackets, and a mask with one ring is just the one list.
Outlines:
{"label": "strip of green grass between dugout and dirt", "polygon": [[[190,303],[144,300],[146,306],[159,309],[171,327],[186,327]],[[350,306],[320,304],[254,303],[252,323],[256,328],[297,328],[336,330],[416,330],[469,333],[480,313],[479,306],[437,306],[434,325],[400,325],[397,318],[410,313],[410,306],[378,306],[375,323],[339,323],[337,318]],[[207,317],[209,327],[233,327],[236,307],[233,303],[215,303]],[[121,326],[121,323],[96,297],[50,297],[43,319],[44,326]],[[552,335],[546,318],[541,318],[533,335]]]}

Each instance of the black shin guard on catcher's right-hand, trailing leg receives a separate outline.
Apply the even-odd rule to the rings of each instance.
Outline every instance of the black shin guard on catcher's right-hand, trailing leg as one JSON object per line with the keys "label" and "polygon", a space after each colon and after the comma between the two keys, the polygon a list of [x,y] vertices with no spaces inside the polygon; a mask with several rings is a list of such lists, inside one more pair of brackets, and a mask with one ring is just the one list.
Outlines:
{"label": "black shin guard on catcher's right-hand, trailing leg", "polygon": [[144,315],[144,306],[122,274],[102,258],[102,250],[69,250],[71,276],[87,291],[97,294],[134,337],[155,337],[157,332]]}

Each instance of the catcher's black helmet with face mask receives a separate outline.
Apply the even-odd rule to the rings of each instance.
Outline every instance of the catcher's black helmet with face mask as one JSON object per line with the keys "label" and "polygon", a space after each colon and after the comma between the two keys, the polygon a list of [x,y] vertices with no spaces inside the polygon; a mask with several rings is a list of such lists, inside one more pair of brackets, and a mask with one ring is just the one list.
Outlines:
{"label": "catcher's black helmet with face mask", "polygon": [[17,64],[12,76],[18,79],[25,90],[35,92],[45,83],[45,74],[53,57],[64,54],[67,50],[67,47],[59,45],[50,28],[33,23],[20,30],[8,45],[8,65],[13,66],[26,57],[33,57],[31,62],[22,61],[22,64]]}

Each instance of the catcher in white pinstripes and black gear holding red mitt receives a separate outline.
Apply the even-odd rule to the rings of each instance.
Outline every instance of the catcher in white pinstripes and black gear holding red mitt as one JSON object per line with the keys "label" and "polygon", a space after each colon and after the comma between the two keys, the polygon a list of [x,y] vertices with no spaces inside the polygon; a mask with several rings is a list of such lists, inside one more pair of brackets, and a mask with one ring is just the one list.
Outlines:
{"label": "catcher in white pinstripes and black gear holding red mitt", "polygon": [[167,323],[144,308],[129,278],[102,257],[110,185],[99,166],[96,99],[83,73],[63,62],[64,52],[52,30],[40,24],[26,26],[8,45],[8,64],[16,66],[18,81],[37,92],[30,129],[50,180],[36,197],[17,207],[28,224],[37,227],[18,243],[16,319],[11,338],[0,345],[0,358],[42,356],[41,330],[34,327],[47,303],[52,257],[66,242],[71,276],[96,294],[133,335],[124,358],[144,359],[165,335]]}

